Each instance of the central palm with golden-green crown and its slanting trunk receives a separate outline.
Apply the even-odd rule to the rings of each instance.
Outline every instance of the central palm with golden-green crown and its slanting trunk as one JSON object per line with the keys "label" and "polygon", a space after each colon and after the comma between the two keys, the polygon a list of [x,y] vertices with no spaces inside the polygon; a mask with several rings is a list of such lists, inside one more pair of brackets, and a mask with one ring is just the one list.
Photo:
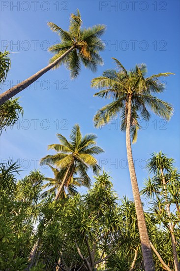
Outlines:
{"label": "central palm with golden-green crown and its slanting trunk", "polygon": [[60,198],[63,186],[70,183],[73,174],[76,172],[81,178],[81,182],[90,185],[90,177],[87,170],[92,169],[93,173],[97,174],[100,167],[97,165],[97,160],[94,154],[100,154],[103,149],[96,145],[96,135],[87,134],[84,137],[80,132],[80,126],[75,124],[70,134],[68,141],[63,135],[57,134],[61,144],[51,144],[48,149],[57,151],[57,154],[47,155],[41,159],[41,165],[56,165],[56,167],[64,170],[62,175],[59,190],[55,200]]}

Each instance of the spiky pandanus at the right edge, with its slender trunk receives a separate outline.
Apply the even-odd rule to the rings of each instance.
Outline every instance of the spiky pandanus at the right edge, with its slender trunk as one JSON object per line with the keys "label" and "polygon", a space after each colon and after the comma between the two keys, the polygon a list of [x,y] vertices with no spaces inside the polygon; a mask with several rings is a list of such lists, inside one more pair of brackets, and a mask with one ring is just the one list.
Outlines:
{"label": "spiky pandanus at the right edge, with its slender trunk", "polygon": [[[168,230],[172,243],[174,270],[180,271],[175,236],[176,227],[180,226],[180,172],[173,167],[173,162],[172,158],[168,158],[162,152],[153,153],[147,168],[154,176],[145,181],[141,194],[151,199],[153,217],[156,217],[159,225],[163,223]],[[176,211],[176,214],[172,210]]]}

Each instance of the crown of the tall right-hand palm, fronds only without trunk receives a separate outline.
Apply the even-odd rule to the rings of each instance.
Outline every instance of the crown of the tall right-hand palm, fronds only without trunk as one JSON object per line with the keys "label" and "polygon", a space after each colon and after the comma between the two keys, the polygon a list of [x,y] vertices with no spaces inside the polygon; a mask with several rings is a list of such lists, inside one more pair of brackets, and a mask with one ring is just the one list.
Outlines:
{"label": "crown of the tall right-hand palm, fronds only without trunk", "polygon": [[109,123],[120,113],[121,131],[126,129],[128,111],[128,98],[131,96],[131,123],[130,132],[133,142],[137,140],[137,132],[140,129],[138,120],[149,121],[149,109],[156,115],[169,120],[173,114],[172,105],[164,102],[153,94],[164,91],[164,84],[159,77],[173,74],[171,72],[159,73],[145,78],[147,67],[145,64],[136,65],[127,71],[122,64],[113,58],[117,64],[116,69],[108,69],[102,76],[92,79],[91,86],[100,88],[94,96],[100,98],[113,98],[113,102],[103,106],[94,116],[96,127]]}

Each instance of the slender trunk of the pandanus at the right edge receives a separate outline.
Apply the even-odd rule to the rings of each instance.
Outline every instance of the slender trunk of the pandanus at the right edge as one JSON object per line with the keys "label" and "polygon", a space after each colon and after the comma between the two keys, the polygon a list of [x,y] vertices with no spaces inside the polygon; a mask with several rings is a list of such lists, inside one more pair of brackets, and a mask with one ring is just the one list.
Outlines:
{"label": "slender trunk of the pandanus at the right edge", "polygon": [[[166,213],[167,213],[167,216],[170,217],[171,216],[171,211],[170,211],[170,204],[168,203],[168,199],[167,199],[166,180],[165,180],[165,177],[164,177],[163,169],[161,168],[160,170],[161,170],[162,183],[163,183],[163,189],[164,189],[164,196],[165,196],[165,202],[166,202]],[[171,243],[172,243],[175,271],[180,271],[180,265],[179,265],[179,261],[178,261],[178,253],[177,253],[177,248],[176,248],[176,238],[175,238],[175,234],[174,234],[174,227],[173,227],[172,221],[169,222],[168,229],[169,229],[169,233],[170,233],[170,236],[171,236]]]}

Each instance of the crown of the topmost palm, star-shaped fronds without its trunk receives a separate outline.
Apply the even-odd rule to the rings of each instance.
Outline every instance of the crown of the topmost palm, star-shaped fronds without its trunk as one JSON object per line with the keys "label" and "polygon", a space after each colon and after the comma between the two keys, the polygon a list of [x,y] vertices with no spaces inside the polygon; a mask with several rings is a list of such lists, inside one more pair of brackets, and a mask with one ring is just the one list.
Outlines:
{"label": "crown of the topmost palm, star-shaped fronds without its trunk", "polygon": [[95,25],[88,29],[82,29],[82,23],[79,10],[75,14],[71,14],[68,31],[62,30],[54,23],[48,23],[51,30],[56,32],[61,39],[60,43],[52,45],[49,48],[50,52],[55,53],[50,63],[53,63],[72,46],[74,47],[55,67],[58,68],[62,63],[65,63],[66,67],[70,70],[71,78],[78,76],[81,69],[81,62],[92,71],[96,71],[97,66],[103,64],[103,60],[98,52],[104,49],[104,44],[100,36],[105,32],[105,26]]}

